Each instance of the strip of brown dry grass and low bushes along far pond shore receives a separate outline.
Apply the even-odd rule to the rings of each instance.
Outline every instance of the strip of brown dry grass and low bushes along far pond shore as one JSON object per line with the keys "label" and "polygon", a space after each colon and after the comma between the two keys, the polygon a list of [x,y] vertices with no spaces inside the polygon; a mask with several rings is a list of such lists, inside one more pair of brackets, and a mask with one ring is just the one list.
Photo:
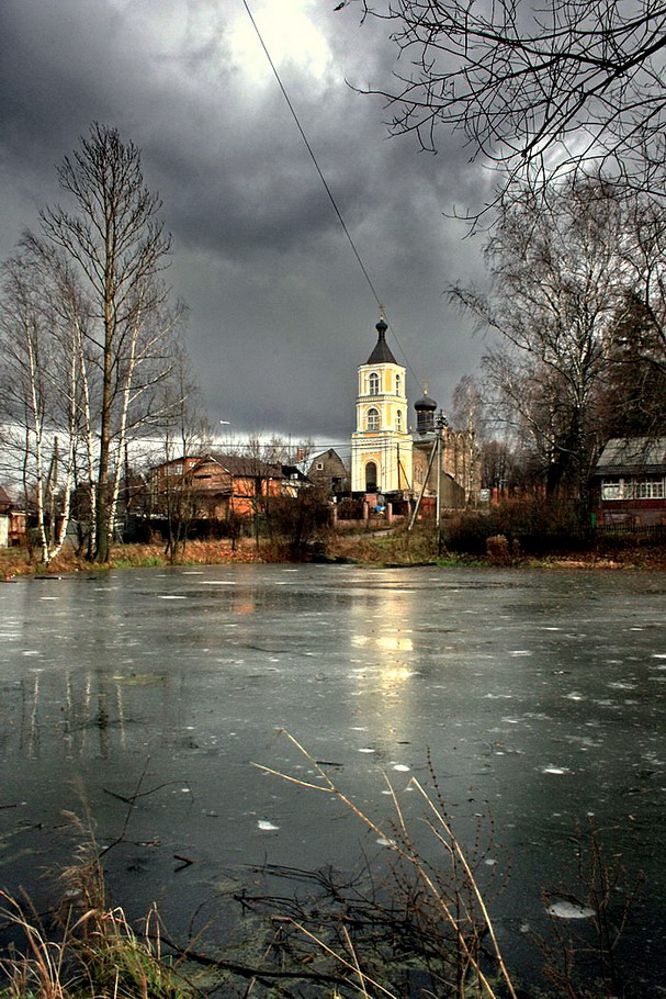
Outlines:
{"label": "strip of brown dry grass and low bushes along far pond shore", "polygon": [[24,548],[0,549],[0,581],[22,576],[98,572],[109,569],[143,569],[166,565],[218,565],[235,563],[324,562],[375,566],[495,566],[544,569],[666,569],[666,539],[636,531],[540,532],[524,521],[488,520],[478,514],[461,515],[444,524],[440,538],[429,527],[408,531],[327,530],[298,545],[284,538],[189,540],[176,554],[163,542],[114,545],[109,561],[87,561],[74,548],[65,548],[47,565]]}

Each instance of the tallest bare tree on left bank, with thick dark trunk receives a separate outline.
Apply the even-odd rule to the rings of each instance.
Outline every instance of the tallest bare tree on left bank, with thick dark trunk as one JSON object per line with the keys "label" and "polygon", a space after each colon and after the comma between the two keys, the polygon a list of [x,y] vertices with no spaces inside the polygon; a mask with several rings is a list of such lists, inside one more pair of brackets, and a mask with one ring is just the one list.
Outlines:
{"label": "tallest bare tree on left bank, with thick dark trunk", "polygon": [[58,177],[72,207],[46,209],[42,227],[45,239],[77,269],[91,303],[86,336],[100,382],[92,423],[92,554],[104,562],[131,413],[136,426],[138,396],[170,368],[163,347],[171,322],[160,323],[167,290],[159,280],[170,236],[158,218],[161,203],[144,183],[139,150],[123,143],[115,128],[92,125]]}

